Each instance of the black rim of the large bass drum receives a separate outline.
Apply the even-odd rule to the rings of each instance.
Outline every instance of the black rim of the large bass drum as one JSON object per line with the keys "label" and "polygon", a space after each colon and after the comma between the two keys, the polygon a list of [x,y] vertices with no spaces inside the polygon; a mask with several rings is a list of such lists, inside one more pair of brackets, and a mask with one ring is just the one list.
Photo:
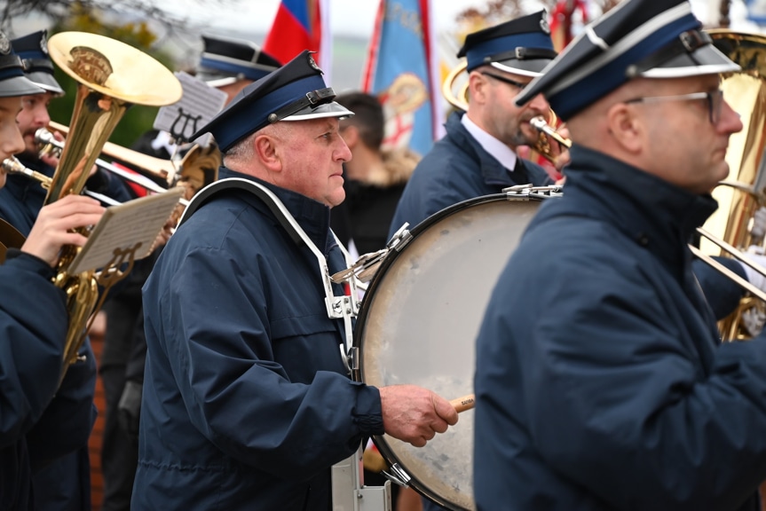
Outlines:
{"label": "black rim of the large bass drum", "polygon": [[[444,208],[438,211],[437,213],[429,216],[428,218],[423,220],[420,224],[417,224],[415,228],[413,228],[412,231],[410,232],[412,235],[412,238],[409,240],[407,245],[404,248],[401,248],[400,250],[396,250],[396,249],[391,250],[391,252],[389,252],[389,254],[385,256],[385,258],[383,259],[383,262],[381,263],[380,268],[378,268],[378,270],[375,272],[375,277],[371,280],[370,285],[367,288],[367,294],[362,300],[356,326],[354,328],[354,335],[353,335],[353,346],[354,348],[358,350],[358,353],[359,353],[359,366],[353,371],[353,379],[355,381],[360,381],[360,382],[367,382],[367,380],[369,379],[366,377],[367,367],[366,367],[365,357],[364,357],[364,344],[367,338],[367,335],[366,335],[367,320],[371,313],[371,308],[375,306],[375,300],[373,298],[375,297],[375,293],[378,290],[378,288],[383,285],[384,280],[388,276],[388,271],[391,269],[391,266],[397,263],[402,256],[407,254],[407,249],[410,248],[412,243],[414,243],[416,240],[419,240],[424,233],[429,232],[435,225],[441,224],[444,221],[449,220],[450,216],[459,215],[460,213],[465,212],[470,208],[477,208],[482,205],[485,205],[486,203],[502,202],[502,201],[526,202],[526,203],[535,202],[536,206],[539,208],[539,204],[541,203],[541,201],[546,198],[547,197],[536,196],[536,195],[529,195],[529,196],[525,196],[524,198],[518,198],[514,196],[509,196],[505,193],[485,195],[485,196],[477,197],[470,200],[463,200],[462,202],[454,204],[448,208]],[[512,211],[511,205],[508,205],[508,208]],[[536,209],[537,208],[534,208],[535,212],[536,212]],[[531,218],[532,215],[530,215],[529,218]],[[528,221],[527,221],[527,224],[528,224]],[[522,228],[522,231],[524,230],[525,230],[525,225]],[[517,243],[511,249],[510,253],[512,253],[513,250],[515,250],[516,246],[517,246]],[[490,293],[491,293],[491,290],[490,290]],[[478,320],[480,321],[480,318]],[[372,372],[372,369],[370,369],[370,372]],[[407,382],[405,381],[403,383],[407,383]],[[428,387],[428,386],[425,386],[425,387]],[[472,391],[472,387],[470,391]],[[466,394],[467,393],[469,392],[466,392]],[[447,399],[452,399],[458,396],[444,396],[444,397],[446,397]],[[460,421],[458,421],[458,425],[459,424],[460,424]],[[423,497],[430,499],[431,501],[437,503],[439,506],[446,507],[447,509],[451,509],[454,511],[463,511],[463,510],[470,511],[470,509],[472,509],[471,507],[462,507],[460,505],[455,504],[454,502],[446,501],[445,499],[442,499],[438,495],[438,493],[436,493],[435,491],[432,491],[429,488],[428,484],[422,481],[422,479],[415,473],[417,471],[408,469],[407,463],[403,460],[399,460],[399,457],[389,445],[389,441],[386,439],[386,436],[373,436],[373,441],[378,451],[383,456],[383,459],[386,461],[388,467],[391,467],[394,464],[398,464],[399,467],[403,468],[404,471],[407,473],[407,476],[411,478],[407,482],[407,485],[415,489],[415,491],[420,493]],[[470,474],[472,475],[472,468],[470,468]],[[472,481],[471,481],[471,485],[472,485]]]}

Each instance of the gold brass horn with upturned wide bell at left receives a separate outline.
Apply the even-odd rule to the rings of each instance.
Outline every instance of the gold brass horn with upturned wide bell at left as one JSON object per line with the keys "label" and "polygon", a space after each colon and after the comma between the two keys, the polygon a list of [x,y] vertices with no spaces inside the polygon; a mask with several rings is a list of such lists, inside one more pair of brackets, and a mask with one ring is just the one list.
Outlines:
{"label": "gold brass horn with upturned wide bell at left", "polygon": [[[166,67],[142,51],[108,37],[83,32],[51,36],[48,49],[56,64],[77,81],[75,110],[69,122],[67,144],[61,153],[44,204],[83,191],[90,169],[117,122],[132,104],[170,105],[181,98],[178,79]],[[83,232],[86,234],[86,232]],[[108,288],[130,271],[84,271],[70,274],[67,267],[78,248],[62,249],[54,284],[67,294],[69,328],[61,378],[90,327],[89,318],[99,310]],[[99,288],[105,289],[99,301]]]}

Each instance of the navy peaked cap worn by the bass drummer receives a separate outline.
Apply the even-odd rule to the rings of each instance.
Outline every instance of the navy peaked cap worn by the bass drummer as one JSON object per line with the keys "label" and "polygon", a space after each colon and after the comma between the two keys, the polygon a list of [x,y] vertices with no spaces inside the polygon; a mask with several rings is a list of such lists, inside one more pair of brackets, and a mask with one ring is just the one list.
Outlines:
{"label": "navy peaked cap worn by the bass drummer", "polygon": [[226,152],[242,138],[279,121],[307,121],[320,117],[349,117],[353,113],[333,99],[322,70],[303,51],[295,59],[241,90],[221,113],[192,139],[211,133]]}

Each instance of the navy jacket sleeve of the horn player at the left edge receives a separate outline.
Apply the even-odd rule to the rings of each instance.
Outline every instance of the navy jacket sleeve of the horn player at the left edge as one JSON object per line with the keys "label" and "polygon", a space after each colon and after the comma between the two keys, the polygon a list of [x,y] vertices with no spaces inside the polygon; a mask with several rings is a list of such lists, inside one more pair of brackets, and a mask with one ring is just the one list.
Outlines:
{"label": "navy jacket sleeve of the horn player at the left edge", "polygon": [[32,473],[87,443],[91,431],[82,427],[90,401],[53,399],[68,319],[52,276],[48,264],[14,250],[0,266],[0,509],[32,509]]}

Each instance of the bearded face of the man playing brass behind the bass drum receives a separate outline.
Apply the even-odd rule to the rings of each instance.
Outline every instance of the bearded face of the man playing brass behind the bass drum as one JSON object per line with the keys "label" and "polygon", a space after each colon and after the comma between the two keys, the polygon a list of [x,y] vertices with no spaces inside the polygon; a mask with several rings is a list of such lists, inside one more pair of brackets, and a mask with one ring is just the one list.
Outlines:
{"label": "bearded face of the man playing brass behind the bass drum", "polygon": [[481,67],[479,79],[485,81],[486,107],[483,108],[483,128],[505,145],[533,145],[540,138],[540,131],[529,123],[534,117],[548,118],[550,106],[541,94],[525,106],[516,106],[514,99],[530,76],[505,73],[494,67]]}

